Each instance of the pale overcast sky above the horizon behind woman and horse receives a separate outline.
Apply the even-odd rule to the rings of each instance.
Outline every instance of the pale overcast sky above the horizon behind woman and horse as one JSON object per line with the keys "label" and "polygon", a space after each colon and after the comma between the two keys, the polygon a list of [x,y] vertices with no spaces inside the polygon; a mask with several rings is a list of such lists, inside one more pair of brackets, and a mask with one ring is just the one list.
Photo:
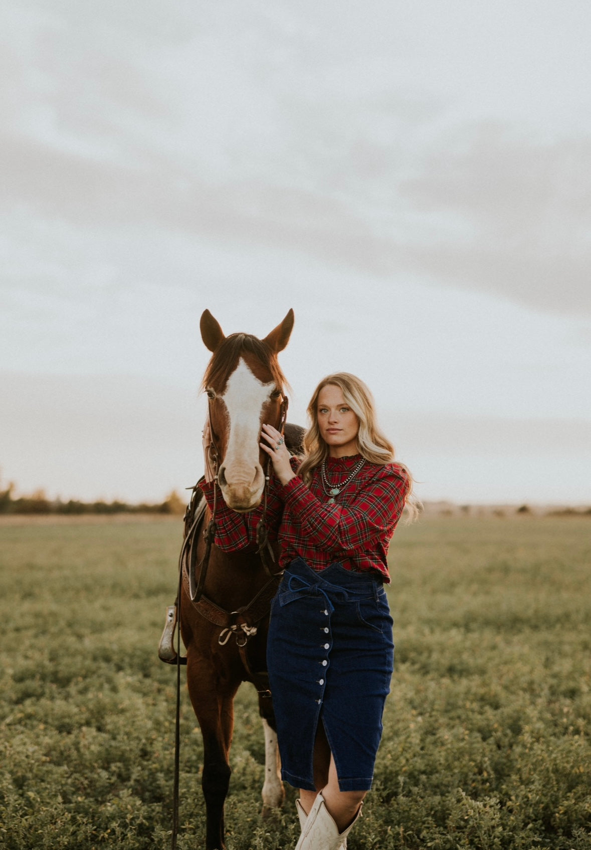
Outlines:
{"label": "pale overcast sky above the horizon behind woman and horse", "polygon": [[201,312],[293,307],[291,421],[352,371],[425,500],[591,503],[590,4],[2,19],[4,483],[193,484]]}

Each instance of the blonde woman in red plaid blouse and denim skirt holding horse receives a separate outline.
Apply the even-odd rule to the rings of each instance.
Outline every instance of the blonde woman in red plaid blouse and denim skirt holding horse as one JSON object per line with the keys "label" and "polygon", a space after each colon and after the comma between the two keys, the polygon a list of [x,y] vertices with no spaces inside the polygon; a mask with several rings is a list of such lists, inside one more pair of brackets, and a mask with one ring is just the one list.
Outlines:
{"label": "blonde woman in red plaid blouse and denim skirt holding horse", "polygon": [[[325,377],[308,415],[301,463],[279,431],[262,426],[274,471],[267,519],[285,570],[267,665],[282,776],[300,789],[296,850],[337,850],[371,787],[380,744],[394,660],[386,555],[411,479],[393,462],[359,378]],[[207,431],[204,445],[202,489],[211,503]],[[235,548],[239,529],[244,545],[254,544],[258,513],[222,508],[217,545]]]}

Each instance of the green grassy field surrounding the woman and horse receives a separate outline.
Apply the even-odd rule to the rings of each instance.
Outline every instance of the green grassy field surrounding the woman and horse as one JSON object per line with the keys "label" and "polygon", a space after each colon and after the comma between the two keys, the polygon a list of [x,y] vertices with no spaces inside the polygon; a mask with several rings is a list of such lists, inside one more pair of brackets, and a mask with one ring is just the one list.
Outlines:
{"label": "green grassy field surrounding the woman and horse", "polygon": [[[170,841],[174,677],[156,647],[181,524],[0,524],[0,846]],[[591,520],[423,519],[391,547],[397,665],[350,850],[591,847]],[[228,847],[295,845],[259,816],[254,690],[236,706]],[[202,847],[183,694],[181,836]]]}

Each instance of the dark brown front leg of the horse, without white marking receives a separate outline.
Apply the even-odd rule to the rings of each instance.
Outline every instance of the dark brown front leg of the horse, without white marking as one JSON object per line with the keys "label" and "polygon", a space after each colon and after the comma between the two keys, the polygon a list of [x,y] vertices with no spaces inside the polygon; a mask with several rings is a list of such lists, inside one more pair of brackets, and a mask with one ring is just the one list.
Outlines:
{"label": "dark brown front leg of the horse, without white marking", "polygon": [[[189,694],[203,736],[203,775],[205,797],[206,850],[225,850],[223,809],[230,783],[229,751],[234,731],[235,687],[217,692],[215,682],[207,683],[203,668],[187,671]],[[219,684],[218,684],[219,687]]]}

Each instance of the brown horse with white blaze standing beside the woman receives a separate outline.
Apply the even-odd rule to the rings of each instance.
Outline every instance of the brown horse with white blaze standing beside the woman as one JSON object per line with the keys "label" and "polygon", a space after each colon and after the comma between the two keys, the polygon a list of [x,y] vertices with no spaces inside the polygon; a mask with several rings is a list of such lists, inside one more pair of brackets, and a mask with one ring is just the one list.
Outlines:
{"label": "brown horse with white blaze standing beside the woman", "polygon": [[[201,316],[201,337],[212,352],[203,387],[209,398],[217,496],[239,513],[255,509],[266,496],[267,456],[259,446],[261,425],[283,425],[285,380],[277,354],[287,345],[293,323],[290,310],[281,324],[260,340],[245,333],[225,337],[209,310]],[[301,428],[287,426],[288,445],[290,438],[292,446],[297,444]],[[274,561],[270,555],[272,547],[266,542],[264,527],[259,551],[224,552],[211,543],[212,533],[208,546],[202,534],[192,531],[200,524],[200,509],[203,511],[204,503],[196,490],[185,518],[185,534],[194,534],[194,546],[184,546],[181,558],[180,626],[187,648],[189,695],[203,734],[205,846],[223,850],[234,696],[241,682],[253,683],[259,693],[266,754],[263,813],[284,800],[266,673],[269,609],[279,585],[279,575],[273,574],[279,572],[279,565],[276,547]],[[208,522],[209,508],[204,524]],[[191,574],[192,569],[197,575]]]}

